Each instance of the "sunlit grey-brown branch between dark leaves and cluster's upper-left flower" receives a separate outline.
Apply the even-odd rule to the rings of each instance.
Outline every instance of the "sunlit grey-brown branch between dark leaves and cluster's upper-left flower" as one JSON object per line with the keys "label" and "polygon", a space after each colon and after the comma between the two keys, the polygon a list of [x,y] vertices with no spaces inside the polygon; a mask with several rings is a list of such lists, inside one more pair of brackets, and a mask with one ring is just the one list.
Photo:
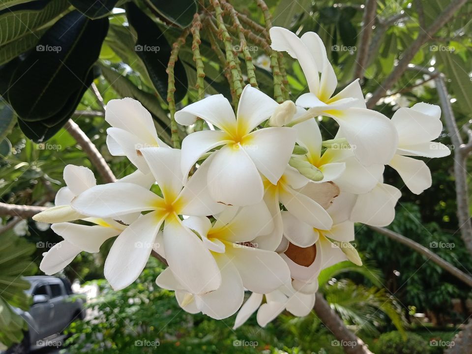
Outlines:
{"label": "sunlit grey-brown branch between dark leaves and cluster's upper-left flower", "polygon": [[106,183],[115,182],[117,178],[113,174],[112,170],[108,166],[107,162],[98,151],[98,149],[90,141],[89,137],[80,129],[80,127],[72,120],[69,119],[65,123],[64,128],[69,132],[70,135],[77,141],[89,156],[90,162],[95,166],[100,176]]}

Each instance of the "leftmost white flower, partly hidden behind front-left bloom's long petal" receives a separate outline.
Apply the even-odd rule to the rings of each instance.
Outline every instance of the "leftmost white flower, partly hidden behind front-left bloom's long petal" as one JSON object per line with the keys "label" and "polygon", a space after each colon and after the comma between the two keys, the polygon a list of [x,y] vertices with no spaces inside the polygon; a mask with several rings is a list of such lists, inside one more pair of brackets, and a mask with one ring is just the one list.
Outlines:
{"label": "leftmost white flower, partly hidden behind front-left bloom's long petal", "polygon": [[[150,179],[150,177],[152,179]],[[64,168],[64,181],[66,187],[59,189],[56,194],[56,206],[70,208],[70,203],[75,197],[89,188],[96,186],[95,176],[93,176],[93,173],[87,167],[83,166],[67,165]],[[136,171],[117,181],[117,183],[120,182],[137,183],[149,188],[154,182],[154,178],[150,174],[144,175],[140,171]],[[51,210],[53,210],[52,213]],[[95,225],[80,225],[70,222],[59,222],[51,225],[51,229],[64,238],[64,241],[55,244],[44,254],[39,268],[48,275],[55,274],[62,270],[82,251],[89,253],[99,252],[103,242],[111,237],[118,236],[126,228],[125,225],[110,218],[87,218],[83,214],[77,213],[72,209],[70,210],[71,212],[67,213],[67,215],[74,219],[80,218]],[[137,217],[138,215],[131,214],[123,215],[120,219],[130,222]],[[33,219],[38,218],[55,222],[57,218],[54,207],[33,216]]]}

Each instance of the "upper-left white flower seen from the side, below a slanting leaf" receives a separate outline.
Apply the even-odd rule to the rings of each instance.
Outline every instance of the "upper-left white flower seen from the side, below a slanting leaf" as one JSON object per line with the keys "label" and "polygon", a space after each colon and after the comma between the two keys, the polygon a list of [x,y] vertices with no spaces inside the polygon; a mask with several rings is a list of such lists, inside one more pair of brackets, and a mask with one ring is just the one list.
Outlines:
{"label": "upper-left white flower seen from the side, below a slanting leaf", "polygon": [[114,156],[126,156],[143,173],[148,173],[149,167],[139,150],[168,147],[157,136],[151,114],[132,98],[110,100],[105,120],[112,126],[107,129],[110,153]]}

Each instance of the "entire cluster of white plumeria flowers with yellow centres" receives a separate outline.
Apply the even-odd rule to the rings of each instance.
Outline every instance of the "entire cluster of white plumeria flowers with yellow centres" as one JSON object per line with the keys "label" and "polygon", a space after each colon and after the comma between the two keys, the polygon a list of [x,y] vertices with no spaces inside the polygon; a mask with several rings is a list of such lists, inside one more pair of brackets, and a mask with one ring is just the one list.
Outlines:
{"label": "entire cluster of white plumeria flowers with yellow centres", "polygon": [[[358,81],[333,95],[337,79],[316,33],[274,27],[270,37],[274,50],[298,60],[309,92],[279,104],[246,86],[236,114],[221,94],[192,103],[177,123],[204,119],[210,129],[190,133],[181,149],[159,139],[139,102],[108,103],[108,148],[137,170],[97,185],[89,169],[66,166],[56,206],[34,217],[64,239],[44,255],[46,274],[116,237],[104,267],[114,289],[133,283],[157,253],[168,267],[156,283],[185,311],[223,319],[239,310],[237,327],[256,311],[262,326],[284,310],[308,314],[321,270],[362,264],[354,223],[388,225],[401,196],[383,183],[384,166],[418,194],[431,174],[414,157],[450,153],[432,142],[441,111],[419,103],[389,119],[366,108]],[[323,140],[318,116],[337,122],[334,139]],[[245,291],[252,295],[243,304]]]}

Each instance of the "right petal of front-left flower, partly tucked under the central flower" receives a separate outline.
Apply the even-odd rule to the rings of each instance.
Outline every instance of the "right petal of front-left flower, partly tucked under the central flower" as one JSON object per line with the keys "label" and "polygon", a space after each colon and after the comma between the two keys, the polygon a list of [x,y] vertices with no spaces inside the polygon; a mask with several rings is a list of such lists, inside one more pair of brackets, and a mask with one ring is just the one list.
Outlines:
{"label": "right petal of front-left flower, partly tucked under the central flower", "polygon": [[205,216],[221,212],[226,206],[217,203],[210,194],[208,186],[208,170],[212,164],[213,155],[197,169],[190,177],[178,196],[176,204],[182,205],[179,211],[183,215]]}

